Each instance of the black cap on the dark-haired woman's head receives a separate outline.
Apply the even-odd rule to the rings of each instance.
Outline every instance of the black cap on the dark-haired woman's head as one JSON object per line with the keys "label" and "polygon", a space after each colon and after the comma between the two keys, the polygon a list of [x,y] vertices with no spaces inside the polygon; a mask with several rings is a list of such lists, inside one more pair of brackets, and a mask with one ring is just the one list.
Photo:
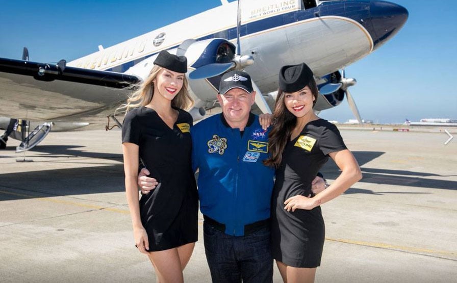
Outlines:
{"label": "black cap on the dark-haired woman's head", "polygon": [[313,78],[313,71],[307,64],[284,66],[280,70],[279,86],[285,92],[296,92],[306,87]]}

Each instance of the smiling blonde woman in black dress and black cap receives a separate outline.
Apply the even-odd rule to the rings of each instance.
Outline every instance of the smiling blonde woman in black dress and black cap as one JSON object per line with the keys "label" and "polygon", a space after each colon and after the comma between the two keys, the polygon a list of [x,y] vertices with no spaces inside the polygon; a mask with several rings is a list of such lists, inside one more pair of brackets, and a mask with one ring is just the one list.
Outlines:
{"label": "smiling blonde woman in black dress and black cap", "polygon": [[[122,151],[125,190],[135,244],[147,254],[158,282],[183,282],[183,269],[197,241],[198,193],[191,165],[192,105],[187,59],[162,51],[124,108]],[[139,162],[157,180],[138,194]]]}

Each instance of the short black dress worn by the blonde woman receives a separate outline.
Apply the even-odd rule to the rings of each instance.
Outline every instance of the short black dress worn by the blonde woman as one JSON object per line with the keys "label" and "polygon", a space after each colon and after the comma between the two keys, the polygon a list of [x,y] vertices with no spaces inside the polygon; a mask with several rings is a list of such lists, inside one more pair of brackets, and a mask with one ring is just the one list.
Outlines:
{"label": "short black dress worn by the blonde woman", "polygon": [[131,110],[122,125],[122,142],[139,146],[139,157],[156,189],[140,199],[141,222],[149,251],[166,250],[197,241],[198,192],[192,172],[192,116],[184,110],[171,129],[146,107]]}

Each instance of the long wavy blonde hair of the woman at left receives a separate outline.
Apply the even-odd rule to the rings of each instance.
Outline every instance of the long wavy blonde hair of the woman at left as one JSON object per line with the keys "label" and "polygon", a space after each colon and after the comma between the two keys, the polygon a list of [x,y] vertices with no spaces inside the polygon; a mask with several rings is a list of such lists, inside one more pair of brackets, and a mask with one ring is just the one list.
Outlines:
{"label": "long wavy blonde hair of the woman at left", "polygon": [[[153,69],[151,69],[147,79],[139,84],[131,86],[132,89],[136,89],[132,95],[129,96],[127,102],[121,105],[119,108],[116,109],[115,113],[117,112],[124,112],[127,114],[133,108],[146,106],[148,105],[154,96],[154,79],[157,78],[157,75],[162,71],[164,67],[159,65],[154,65]],[[181,108],[184,110],[188,110],[194,104],[194,100],[189,95],[187,91],[188,81],[186,75],[183,78],[183,87],[181,90],[176,94],[176,96],[171,100],[171,106]]]}

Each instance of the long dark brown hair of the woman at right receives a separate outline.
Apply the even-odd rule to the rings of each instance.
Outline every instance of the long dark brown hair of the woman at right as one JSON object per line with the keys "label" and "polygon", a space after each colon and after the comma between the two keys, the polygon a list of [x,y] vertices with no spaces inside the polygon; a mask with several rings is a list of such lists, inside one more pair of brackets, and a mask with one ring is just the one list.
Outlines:
{"label": "long dark brown hair of the woman at right", "polygon": [[[314,96],[313,108],[316,104],[319,90],[317,89],[316,81],[311,79],[308,87]],[[276,105],[273,112],[273,126],[268,136],[268,144],[270,157],[263,161],[267,166],[278,168],[283,160],[283,151],[286,147],[290,134],[295,127],[297,118],[287,110],[284,104],[284,96],[286,92],[282,89],[277,90]]]}

